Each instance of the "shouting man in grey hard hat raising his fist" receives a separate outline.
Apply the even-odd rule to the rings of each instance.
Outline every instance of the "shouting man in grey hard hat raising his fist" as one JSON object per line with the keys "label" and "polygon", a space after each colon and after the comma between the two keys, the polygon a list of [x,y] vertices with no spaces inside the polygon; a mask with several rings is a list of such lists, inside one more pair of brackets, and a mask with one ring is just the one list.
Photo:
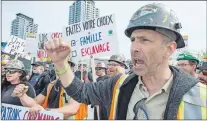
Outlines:
{"label": "shouting man in grey hard hat raising his fist", "polygon": [[125,31],[133,74],[97,83],[82,83],[65,64],[69,42],[49,40],[45,48],[67,94],[81,103],[105,104],[109,119],[206,119],[206,87],[168,64],[176,48],[185,46],[180,29],[176,14],[165,5],[141,7]]}

